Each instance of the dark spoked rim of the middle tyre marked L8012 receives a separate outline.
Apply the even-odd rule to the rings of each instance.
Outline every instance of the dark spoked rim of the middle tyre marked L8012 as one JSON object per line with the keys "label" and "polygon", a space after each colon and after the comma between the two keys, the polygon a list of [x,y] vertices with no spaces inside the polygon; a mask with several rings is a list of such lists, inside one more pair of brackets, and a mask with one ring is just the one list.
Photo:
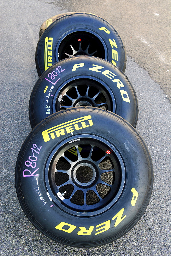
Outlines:
{"label": "dark spoked rim of the middle tyre marked L8012", "polygon": [[115,112],[115,99],[111,95],[108,86],[104,86],[102,82],[77,78],[57,91],[53,101],[53,111],[78,106],[93,106]]}

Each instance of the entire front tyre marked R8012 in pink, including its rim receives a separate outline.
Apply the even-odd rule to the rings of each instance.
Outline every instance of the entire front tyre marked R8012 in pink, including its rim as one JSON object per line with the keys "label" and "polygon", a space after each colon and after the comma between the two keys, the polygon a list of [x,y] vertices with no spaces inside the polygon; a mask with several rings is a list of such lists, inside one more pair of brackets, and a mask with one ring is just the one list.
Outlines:
{"label": "entire front tyre marked R8012 in pink, including its rim", "polygon": [[147,146],[120,116],[77,107],[54,113],[28,135],[15,184],[20,205],[44,235],[95,247],[128,232],[153,186]]}

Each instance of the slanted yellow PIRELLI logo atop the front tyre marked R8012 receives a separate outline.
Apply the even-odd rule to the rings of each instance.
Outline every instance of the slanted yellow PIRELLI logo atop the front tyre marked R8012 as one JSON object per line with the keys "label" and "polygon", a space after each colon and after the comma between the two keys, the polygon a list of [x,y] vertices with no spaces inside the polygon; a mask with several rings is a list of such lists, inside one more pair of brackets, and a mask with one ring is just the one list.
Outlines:
{"label": "slanted yellow PIRELLI logo atop the front tyre marked R8012", "polygon": [[74,131],[78,131],[92,125],[93,121],[91,120],[91,115],[86,115],[81,118],[77,118],[69,122],[51,127],[43,131],[42,136],[44,141],[47,142],[62,135],[65,135],[66,133],[72,133]]}

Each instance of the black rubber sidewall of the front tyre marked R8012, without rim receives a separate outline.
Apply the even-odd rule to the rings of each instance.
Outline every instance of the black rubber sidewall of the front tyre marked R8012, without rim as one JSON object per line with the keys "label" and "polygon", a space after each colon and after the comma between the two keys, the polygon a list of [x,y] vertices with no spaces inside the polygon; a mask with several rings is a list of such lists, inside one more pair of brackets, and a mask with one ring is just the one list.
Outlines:
{"label": "black rubber sidewall of the front tyre marked R8012, without rim", "polygon": [[[66,134],[53,140],[50,139],[47,142],[43,140],[43,131],[86,115],[91,115],[93,126],[86,127],[84,132],[83,130],[82,132],[74,131],[73,135],[71,133]],[[47,159],[54,148],[68,138],[72,141],[73,136],[82,136],[83,134],[96,135],[112,144],[113,148],[111,149],[116,149],[123,159],[126,174],[125,187],[119,200],[106,212],[89,216],[88,218],[64,212],[56,205],[51,207],[53,202],[49,200],[46,194],[47,188],[44,177]],[[33,144],[36,144],[38,148],[42,146],[40,153],[37,154],[38,159],[36,161],[36,168],[38,167],[39,169],[35,174],[38,175],[23,177],[23,170],[25,168],[29,169],[29,167],[25,166],[25,162],[32,155],[31,148],[33,148]],[[35,168],[32,168],[31,172],[33,169],[35,170]],[[25,173],[29,174],[28,171]],[[37,229],[51,239],[70,246],[91,247],[105,244],[121,237],[136,224],[146,209],[151,196],[152,175],[149,152],[132,126],[124,122],[119,116],[108,111],[81,107],[53,114],[32,131],[20,150],[15,180],[21,207]],[[134,189],[137,191],[138,197],[134,196],[132,192],[135,191]],[[123,211],[122,214],[121,211]],[[118,215],[120,216],[119,219],[122,220],[116,225],[116,217]],[[55,228],[63,222],[67,223],[64,229],[73,229],[72,232]],[[106,227],[106,225],[110,226],[110,228],[103,230],[103,226]],[[79,227],[84,227],[87,230],[90,227],[94,228],[90,235],[78,235]],[[100,233],[98,233],[99,228]]]}

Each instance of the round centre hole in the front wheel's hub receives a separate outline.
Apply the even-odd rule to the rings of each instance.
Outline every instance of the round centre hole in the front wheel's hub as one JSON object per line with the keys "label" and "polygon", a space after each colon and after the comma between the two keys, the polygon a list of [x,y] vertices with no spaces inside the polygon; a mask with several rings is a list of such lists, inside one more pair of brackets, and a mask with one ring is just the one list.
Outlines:
{"label": "round centre hole in the front wheel's hub", "polygon": [[76,170],[76,178],[81,183],[88,183],[93,178],[93,170],[86,165],[78,167]]}

